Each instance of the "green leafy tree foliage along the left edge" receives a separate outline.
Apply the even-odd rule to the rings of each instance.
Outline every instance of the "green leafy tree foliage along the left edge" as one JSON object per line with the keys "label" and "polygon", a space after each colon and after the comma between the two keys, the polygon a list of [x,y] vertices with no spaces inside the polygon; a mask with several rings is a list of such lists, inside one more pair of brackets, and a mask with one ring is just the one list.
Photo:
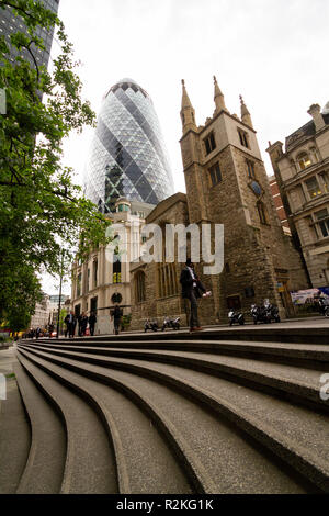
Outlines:
{"label": "green leafy tree foliage along the left edge", "polygon": [[[94,123],[64,25],[38,1],[0,0],[0,15],[3,9],[23,19],[27,34],[11,34],[10,45],[0,36],[0,88],[7,96],[7,114],[0,115],[0,322],[11,312],[13,318],[23,303],[33,313],[35,272],[59,273],[63,245],[71,249],[66,258],[75,245],[84,256],[106,242],[109,225],[61,164],[63,138]],[[52,74],[36,60],[44,49],[37,27],[56,30],[60,53]],[[20,54],[12,61],[13,48]],[[21,57],[22,48],[33,65]]]}

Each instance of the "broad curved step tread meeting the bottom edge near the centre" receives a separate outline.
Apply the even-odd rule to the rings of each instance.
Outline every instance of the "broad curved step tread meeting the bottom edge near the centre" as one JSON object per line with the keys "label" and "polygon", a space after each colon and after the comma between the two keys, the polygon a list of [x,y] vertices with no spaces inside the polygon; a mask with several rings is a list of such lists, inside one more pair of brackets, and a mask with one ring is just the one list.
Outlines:
{"label": "broad curved step tread meeting the bottom edge near the centre", "polygon": [[[121,493],[191,493],[191,486],[150,418],[121,392],[60,367],[24,357],[83,397],[92,396],[115,434]],[[147,473],[147,474],[146,474]]]}

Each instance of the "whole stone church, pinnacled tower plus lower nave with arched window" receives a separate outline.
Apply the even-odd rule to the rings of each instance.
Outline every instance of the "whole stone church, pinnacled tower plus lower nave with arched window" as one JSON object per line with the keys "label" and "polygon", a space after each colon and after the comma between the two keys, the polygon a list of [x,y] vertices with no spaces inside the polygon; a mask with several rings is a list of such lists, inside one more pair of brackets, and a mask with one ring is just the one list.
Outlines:
{"label": "whole stone church, pinnacled tower plus lower nave with arched window", "polygon": [[[203,324],[226,322],[229,307],[247,311],[264,298],[279,305],[283,317],[293,315],[288,292],[307,287],[300,256],[280,223],[250,113],[240,98],[241,116],[230,114],[214,80],[215,111],[202,126],[195,123],[182,81],[180,144],[186,195],[162,201],[146,222],[224,224],[223,272],[203,277],[202,263],[196,268],[213,291],[213,296],[201,303]],[[182,265],[170,267],[132,266],[133,327],[140,327],[147,316],[183,316],[179,284]],[[177,285],[175,290],[171,284]]]}

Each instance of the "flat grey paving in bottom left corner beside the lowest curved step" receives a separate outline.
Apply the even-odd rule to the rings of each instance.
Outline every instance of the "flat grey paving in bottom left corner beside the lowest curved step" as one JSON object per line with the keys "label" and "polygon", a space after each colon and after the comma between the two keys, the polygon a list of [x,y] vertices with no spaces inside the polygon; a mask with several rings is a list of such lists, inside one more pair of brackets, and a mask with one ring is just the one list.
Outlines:
{"label": "flat grey paving in bottom left corner beside the lowest curved step", "polygon": [[31,447],[29,417],[15,380],[7,382],[7,400],[0,402],[0,494],[14,494]]}

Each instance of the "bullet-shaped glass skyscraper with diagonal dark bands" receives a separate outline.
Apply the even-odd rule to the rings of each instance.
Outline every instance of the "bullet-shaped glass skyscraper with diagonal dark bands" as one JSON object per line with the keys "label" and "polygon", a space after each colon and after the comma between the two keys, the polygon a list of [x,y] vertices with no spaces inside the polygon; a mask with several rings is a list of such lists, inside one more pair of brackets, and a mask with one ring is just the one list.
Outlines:
{"label": "bullet-shaped glass skyscraper with diagonal dark bands", "polygon": [[84,186],[103,213],[121,197],[158,204],[174,191],[152,101],[132,79],[114,85],[103,99]]}

